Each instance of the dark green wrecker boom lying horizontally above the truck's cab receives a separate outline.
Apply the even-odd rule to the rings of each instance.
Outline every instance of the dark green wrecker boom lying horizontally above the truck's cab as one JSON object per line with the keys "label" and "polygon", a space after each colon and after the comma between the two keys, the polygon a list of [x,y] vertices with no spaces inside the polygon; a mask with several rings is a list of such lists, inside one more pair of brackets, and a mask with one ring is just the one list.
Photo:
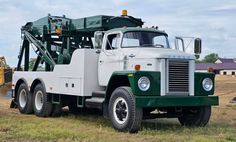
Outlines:
{"label": "dark green wrecker boom lying horizontally above the truck's cab", "polygon": [[121,27],[137,27],[142,26],[143,22],[139,18],[127,18],[123,16],[106,16],[106,15],[97,15],[79,19],[70,19],[66,17],[59,16],[47,16],[39,20],[36,20],[33,23],[33,32],[34,34],[41,35],[43,34],[43,27],[46,26],[51,33],[55,32],[56,28],[65,29],[69,25],[70,31],[85,31],[85,32],[94,32],[98,30],[110,30],[114,28]]}

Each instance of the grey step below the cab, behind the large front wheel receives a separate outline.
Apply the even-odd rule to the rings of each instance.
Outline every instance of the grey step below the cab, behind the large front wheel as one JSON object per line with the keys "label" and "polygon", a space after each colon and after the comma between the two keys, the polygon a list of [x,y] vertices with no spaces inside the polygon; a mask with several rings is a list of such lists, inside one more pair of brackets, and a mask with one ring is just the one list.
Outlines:
{"label": "grey step below the cab, behind the large front wheel", "polygon": [[99,97],[92,97],[85,100],[85,107],[87,108],[97,108],[102,110],[103,108],[103,102],[105,98],[99,98]]}

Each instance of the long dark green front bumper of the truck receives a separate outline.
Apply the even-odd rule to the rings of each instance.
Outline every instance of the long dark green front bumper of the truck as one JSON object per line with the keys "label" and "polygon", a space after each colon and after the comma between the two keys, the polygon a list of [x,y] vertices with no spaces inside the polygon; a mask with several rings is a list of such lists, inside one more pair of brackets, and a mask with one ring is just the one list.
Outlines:
{"label": "long dark green front bumper of the truck", "polygon": [[219,105],[218,96],[135,96],[136,107],[181,107]]}

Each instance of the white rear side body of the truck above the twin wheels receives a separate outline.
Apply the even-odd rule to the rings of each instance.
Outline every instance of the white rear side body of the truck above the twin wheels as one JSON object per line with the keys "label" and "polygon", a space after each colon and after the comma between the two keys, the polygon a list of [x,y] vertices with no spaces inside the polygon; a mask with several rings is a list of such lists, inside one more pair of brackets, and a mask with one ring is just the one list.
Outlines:
{"label": "white rear side body of the truck above the twin wheels", "polygon": [[98,85],[97,62],[96,50],[77,49],[70,64],[56,65],[52,72],[17,71],[13,76],[13,84],[22,78],[30,88],[35,79],[40,79],[47,93],[91,96],[92,91],[101,90]]}

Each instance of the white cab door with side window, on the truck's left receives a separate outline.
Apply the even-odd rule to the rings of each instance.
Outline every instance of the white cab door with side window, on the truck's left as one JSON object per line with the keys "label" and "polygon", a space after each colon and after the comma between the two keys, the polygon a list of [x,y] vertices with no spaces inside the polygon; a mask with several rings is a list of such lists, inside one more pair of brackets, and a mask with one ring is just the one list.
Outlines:
{"label": "white cab door with side window, on the truck's left", "polygon": [[106,86],[112,73],[120,70],[121,33],[105,34],[103,43],[98,60],[98,80],[99,85]]}

